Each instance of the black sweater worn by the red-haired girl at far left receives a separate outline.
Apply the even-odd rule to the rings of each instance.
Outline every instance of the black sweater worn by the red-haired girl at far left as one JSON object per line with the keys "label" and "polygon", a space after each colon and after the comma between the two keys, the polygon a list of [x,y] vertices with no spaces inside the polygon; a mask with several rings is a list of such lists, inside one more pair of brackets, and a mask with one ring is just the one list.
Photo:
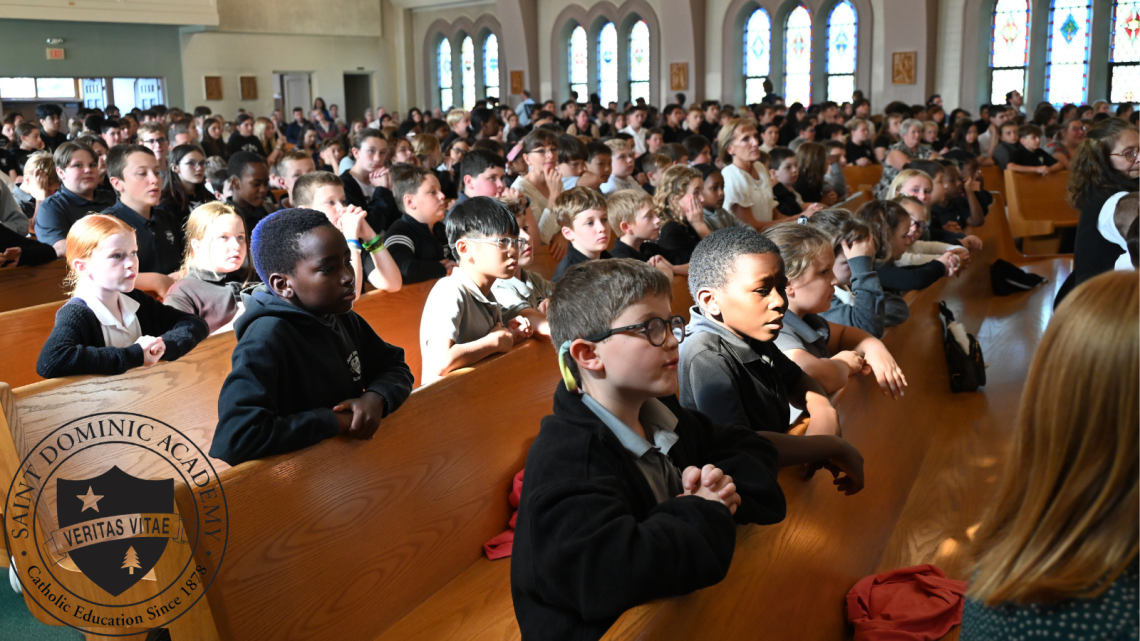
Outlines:
{"label": "black sweater worn by the red-haired girl at far left", "polygon": [[[135,290],[127,293],[139,303],[136,318],[144,336],[162,336],[162,360],[178,360],[210,333],[206,322],[166,307]],[[56,326],[40,350],[35,373],[44,379],[82,374],[122,374],[142,365],[142,348],[106,347],[103,325],[83,299],[73,298],[56,313]]]}

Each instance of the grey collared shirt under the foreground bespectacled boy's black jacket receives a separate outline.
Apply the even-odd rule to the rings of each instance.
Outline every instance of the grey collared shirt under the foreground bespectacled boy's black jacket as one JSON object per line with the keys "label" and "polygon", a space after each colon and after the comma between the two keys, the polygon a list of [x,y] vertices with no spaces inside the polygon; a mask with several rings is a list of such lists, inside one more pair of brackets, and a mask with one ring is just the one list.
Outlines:
{"label": "grey collared shirt under the foreground bespectacled boy's black jacket", "polygon": [[645,430],[648,437],[645,438],[602,407],[602,404],[588,393],[583,396],[581,400],[613,432],[618,443],[634,455],[634,462],[645,476],[658,503],[684,493],[681,471],[669,459],[669,449],[679,440],[677,432],[674,431],[677,429],[677,417],[663,403],[651,398],[642,405],[637,419]]}

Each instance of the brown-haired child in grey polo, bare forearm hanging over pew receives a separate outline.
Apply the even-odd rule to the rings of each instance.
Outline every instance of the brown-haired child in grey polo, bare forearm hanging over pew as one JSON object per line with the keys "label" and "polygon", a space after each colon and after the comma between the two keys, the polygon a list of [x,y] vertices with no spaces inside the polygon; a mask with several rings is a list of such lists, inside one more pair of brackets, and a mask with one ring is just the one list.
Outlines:
{"label": "brown-haired child in grey polo, bare forearm hanging over pew", "polygon": [[776,347],[826,393],[841,390],[850,376],[874,374],[883,395],[902,396],[906,378],[882,341],[820,316],[831,306],[837,284],[831,271],[836,254],[828,238],[819,229],[796,222],[768,227],[764,235],[780,248],[788,277],[788,313]]}

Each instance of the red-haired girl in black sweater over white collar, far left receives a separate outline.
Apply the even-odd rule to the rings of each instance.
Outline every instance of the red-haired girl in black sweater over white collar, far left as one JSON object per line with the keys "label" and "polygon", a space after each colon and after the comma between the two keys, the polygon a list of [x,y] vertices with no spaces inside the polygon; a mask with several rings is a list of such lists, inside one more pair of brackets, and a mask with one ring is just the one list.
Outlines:
{"label": "red-haired girl in black sweater over white collar, far left", "polygon": [[135,229],[113,216],[81,218],[67,232],[73,290],[40,351],[39,375],[122,374],[177,360],[206,338],[205,320],[135,290],[137,252]]}

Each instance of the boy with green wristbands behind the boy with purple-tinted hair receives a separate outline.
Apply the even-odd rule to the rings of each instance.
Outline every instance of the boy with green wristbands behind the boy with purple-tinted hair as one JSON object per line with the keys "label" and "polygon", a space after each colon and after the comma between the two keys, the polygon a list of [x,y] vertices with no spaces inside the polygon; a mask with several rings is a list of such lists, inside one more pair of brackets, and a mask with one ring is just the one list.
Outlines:
{"label": "boy with green wristbands behind the boy with purple-tinted hair", "polygon": [[314,171],[298,178],[293,185],[293,202],[298,208],[324,213],[344,234],[352,253],[357,298],[360,298],[366,282],[381,291],[400,291],[404,278],[384,246],[383,236],[368,225],[363,209],[347,204],[344,182],[335,173]]}

